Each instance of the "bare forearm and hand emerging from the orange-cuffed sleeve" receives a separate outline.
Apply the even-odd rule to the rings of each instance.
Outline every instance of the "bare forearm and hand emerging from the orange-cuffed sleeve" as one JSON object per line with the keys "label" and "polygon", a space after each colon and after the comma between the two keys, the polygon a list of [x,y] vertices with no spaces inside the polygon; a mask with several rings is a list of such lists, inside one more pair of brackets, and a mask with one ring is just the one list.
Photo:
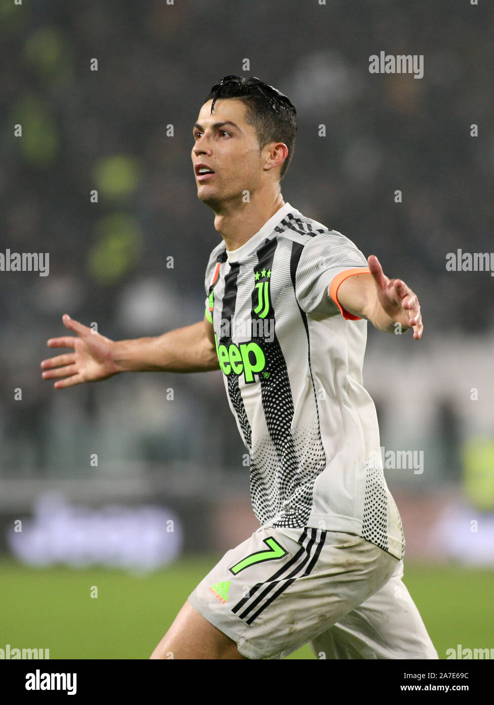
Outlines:
{"label": "bare forearm and hand emerging from the orange-cuffed sleeve", "polygon": [[395,324],[402,331],[412,328],[418,341],[424,326],[419,299],[401,279],[388,279],[375,255],[367,259],[371,274],[355,274],[338,287],[340,305],[360,318],[366,318],[380,331],[393,333]]}

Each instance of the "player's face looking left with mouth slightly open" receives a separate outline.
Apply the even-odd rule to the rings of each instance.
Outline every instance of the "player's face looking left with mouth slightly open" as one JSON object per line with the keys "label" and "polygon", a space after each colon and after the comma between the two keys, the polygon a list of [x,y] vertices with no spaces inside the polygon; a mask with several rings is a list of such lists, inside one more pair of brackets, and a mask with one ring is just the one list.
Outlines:
{"label": "player's face looking left with mouth slightly open", "polygon": [[212,114],[211,104],[204,103],[194,125],[192,164],[197,197],[221,211],[236,200],[240,205],[245,190],[252,195],[259,187],[264,155],[259,154],[254,127],[245,120],[242,101],[218,99]]}

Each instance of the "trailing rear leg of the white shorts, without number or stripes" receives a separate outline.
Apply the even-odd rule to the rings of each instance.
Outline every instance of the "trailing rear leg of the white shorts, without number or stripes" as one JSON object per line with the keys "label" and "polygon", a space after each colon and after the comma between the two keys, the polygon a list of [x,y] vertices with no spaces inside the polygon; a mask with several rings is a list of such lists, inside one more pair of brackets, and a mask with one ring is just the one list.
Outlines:
{"label": "trailing rear leg of the white shorts, without number or stripes", "polygon": [[313,639],[317,658],[438,658],[402,576],[400,561],[380,590]]}

